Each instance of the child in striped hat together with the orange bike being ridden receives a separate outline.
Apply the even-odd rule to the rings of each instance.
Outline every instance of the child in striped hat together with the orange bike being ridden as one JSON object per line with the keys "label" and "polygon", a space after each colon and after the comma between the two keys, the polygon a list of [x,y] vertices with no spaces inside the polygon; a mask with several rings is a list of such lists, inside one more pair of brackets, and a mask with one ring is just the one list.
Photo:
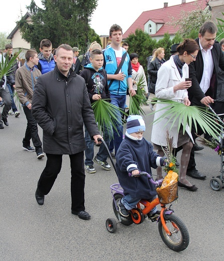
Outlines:
{"label": "child in striped hat together with the orange bike being ridden", "polygon": [[[127,226],[141,224],[147,216],[152,222],[157,220],[164,243],[174,251],[182,251],[189,244],[187,228],[173,214],[171,205],[166,207],[166,204],[178,198],[178,175],[168,172],[164,180],[153,181],[151,167],[164,166],[166,159],[153,151],[152,145],[142,137],[144,131],[142,117],[130,115],[125,139],[116,154],[116,167],[113,164],[120,182],[110,186],[113,211],[117,219]],[[158,188],[155,190],[156,185]],[[157,210],[157,205],[161,206],[161,211]],[[107,218],[106,228],[108,232],[114,233],[117,221]]]}

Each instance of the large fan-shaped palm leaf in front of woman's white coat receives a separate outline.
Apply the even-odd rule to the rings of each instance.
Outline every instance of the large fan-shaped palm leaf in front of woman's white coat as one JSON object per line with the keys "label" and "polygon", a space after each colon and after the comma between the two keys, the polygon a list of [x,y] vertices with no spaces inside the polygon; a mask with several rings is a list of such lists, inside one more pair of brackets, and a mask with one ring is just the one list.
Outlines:
{"label": "large fan-shaped palm leaf in front of woman's white coat", "polygon": [[[173,100],[166,100],[166,99],[158,99],[158,98],[152,98],[155,103],[157,101],[158,103],[165,104],[164,108],[161,108],[157,111],[161,111],[166,109],[166,111],[156,120],[152,122],[156,123],[160,120],[162,120],[164,117],[168,118],[166,121],[164,127],[169,123],[172,122],[170,129],[173,127],[176,120],[178,120],[178,131],[180,129],[181,123],[183,127],[183,134],[185,133],[186,124],[189,125],[190,129],[192,127],[192,122],[195,125],[196,132],[197,132],[197,124],[201,127],[203,132],[208,133],[210,136],[214,137],[215,139],[218,139],[218,136],[220,136],[220,133],[223,133],[221,125],[222,121],[215,116],[214,113],[210,112],[207,108],[200,107],[200,106],[186,106],[181,102],[173,101]],[[156,111],[156,112],[157,112]],[[153,114],[155,112],[152,112],[150,114]]]}

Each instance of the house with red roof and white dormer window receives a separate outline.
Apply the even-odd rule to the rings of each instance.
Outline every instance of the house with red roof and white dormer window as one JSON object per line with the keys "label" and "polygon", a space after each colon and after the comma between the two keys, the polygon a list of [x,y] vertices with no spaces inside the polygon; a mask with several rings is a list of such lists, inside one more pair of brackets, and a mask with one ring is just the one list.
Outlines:
{"label": "house with red roof and white dormer window", "polygon": [[208,5],[208,0],[197,0],[186,3],[186,0],[179,0],[181,3],[176,6],[168,7],[168,3],[164,3],[164,7],[160,9],[142,12],[136,21],[123,34],[125,40],[130,34],[134,34],[136,29],[141,29],[147,32],[153,39],[157,41],[162,39],[165,33],[170,35],[170,39],[174,38],[178,30],[178,26],[170,24],[172,19],[180,19],[181,12],[190,12],[198,6],[205,9]]}

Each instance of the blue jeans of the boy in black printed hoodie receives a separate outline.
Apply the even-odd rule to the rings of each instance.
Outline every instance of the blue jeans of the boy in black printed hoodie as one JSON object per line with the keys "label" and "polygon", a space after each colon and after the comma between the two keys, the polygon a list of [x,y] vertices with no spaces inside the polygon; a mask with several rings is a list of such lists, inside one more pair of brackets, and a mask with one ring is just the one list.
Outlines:
{"label": "blue jeans of the boy in black printed hoodie", "polygon": [[[108,129],[106,127],[106,125],[104,125],[103,139],[104,139],[107,147],[109,147],[110,140],[112,139],[112,133],[111,133],[111,129]],[[92,166],[93,157],[94,157],[94,141],[91,140],[90,135],[86,129],[86,126],[85,126],[85,142],[86,142],[85,165]],[[107,149],[105,148],[104,144],[100,145],[99,152],[97,153],[96,157],[100,161],[103,161],[103,162],[107,161],[108,153],[107,153]]]}

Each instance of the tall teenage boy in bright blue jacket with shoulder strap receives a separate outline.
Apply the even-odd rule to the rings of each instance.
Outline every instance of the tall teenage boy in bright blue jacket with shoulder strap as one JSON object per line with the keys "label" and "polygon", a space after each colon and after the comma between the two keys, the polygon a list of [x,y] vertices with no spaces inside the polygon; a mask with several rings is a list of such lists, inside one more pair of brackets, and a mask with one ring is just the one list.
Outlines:
{"label": "tall teenage boy in bright blue jacket with shoulder strap", "polygon": [[[104,68],[107,71],[108,86],[110,91],[111,103],[124,110],[126,104],[127,86],[131,96],[134,96],[135,90],[132,86],[132,66],[129,55],[126,50],[120,46],[122,42],[122,29],[118,25],[110,28],[111,44],[103,50]],[[125,61],[117,74],[114,74],[122,60],[122,56],[127,54]],[[110,144],[110,152],[115,149],[115,154],[123,139],[122,115],[117,111],[117,130],[114,131],[114,141]]]}

